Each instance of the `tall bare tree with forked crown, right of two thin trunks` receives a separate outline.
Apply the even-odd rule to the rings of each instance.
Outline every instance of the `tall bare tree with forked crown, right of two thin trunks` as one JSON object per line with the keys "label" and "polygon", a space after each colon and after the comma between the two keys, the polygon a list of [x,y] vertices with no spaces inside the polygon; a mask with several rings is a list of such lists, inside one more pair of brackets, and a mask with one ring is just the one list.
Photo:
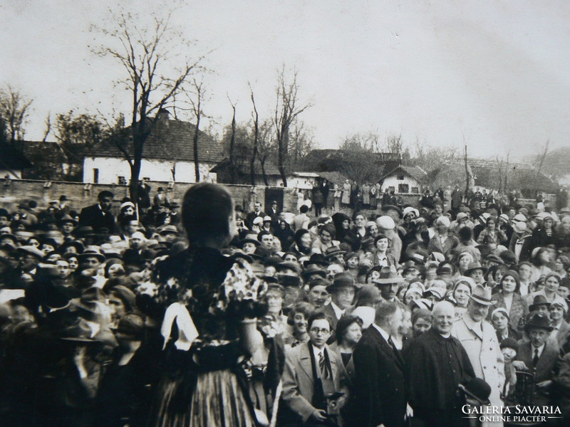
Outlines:
{"label": "tall bare tree with forked crown, right of two thin trunks", "polygon": [[283,186],[287,186],[285,176],[285,164],[289,150],[289,132],[291,125],[297,117],[311,107],[312,103],[299,105],[299,85],[297,84],[297,73],[294,71],[291,81],[286,80],[285,68],[281,68],[277,75],[276,87],[277,101],[275,106],[274,125],[277,141],[277,168],[281,174]]}

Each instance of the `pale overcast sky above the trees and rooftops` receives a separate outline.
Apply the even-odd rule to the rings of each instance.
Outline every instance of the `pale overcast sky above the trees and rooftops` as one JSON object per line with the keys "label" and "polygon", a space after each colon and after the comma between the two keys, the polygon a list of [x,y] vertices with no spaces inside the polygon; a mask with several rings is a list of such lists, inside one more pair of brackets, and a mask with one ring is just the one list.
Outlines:
{"label": "pale overcast sky above the trees and rooftops", "polygon": [[[108,41],[92,26],[109,9],[155,1],[10,0],[0,4],[0,85],[33,98],[26,139],[46,116],[128,112],[124,71],[91,48]],[[402,135],[474,157],[511,159],[570,144],[570,2],[560,1],[177,1],[172,25],[207,53],[204,112],[220,130],[271,117],[277,71],[297,72],[300,118],[321,148],[355,133]],[[170,64],[169,64],[170,65]],[[51,136],[53,139],[53,135]]]}

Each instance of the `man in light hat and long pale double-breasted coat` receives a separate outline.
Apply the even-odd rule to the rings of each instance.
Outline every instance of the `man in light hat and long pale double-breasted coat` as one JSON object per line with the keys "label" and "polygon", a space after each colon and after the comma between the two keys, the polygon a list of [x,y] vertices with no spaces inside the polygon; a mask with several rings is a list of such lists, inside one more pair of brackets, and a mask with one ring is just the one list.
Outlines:
{"label": "man in light hat and long pale double-breasted coat", "polygon": [[[475,376],[491,386],[490,400],[496,407],[503,406],[501,392],[504,386],[504,359],[494,327],[484,319],[489,313],[491,289],[475,286],[467,303],[467,312],[453,325],[452,334],[460,340],[467,352]],[[502,426],[502,422],[484,421],[483,426]]]}

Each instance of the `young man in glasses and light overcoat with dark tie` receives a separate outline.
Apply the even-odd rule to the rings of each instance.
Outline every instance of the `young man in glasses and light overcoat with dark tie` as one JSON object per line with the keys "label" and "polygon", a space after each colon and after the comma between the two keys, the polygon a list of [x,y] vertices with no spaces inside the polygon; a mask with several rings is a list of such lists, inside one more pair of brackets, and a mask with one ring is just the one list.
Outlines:
{"label": "young man in glasses and light overcoat with dark tie", "polygon": [[309,342],[286,353],[280,417],[289,412],[301,421],[297,426],[335,426],[341,422],[339,410],[348,399],[350,381],[341,356],[326,345],[331,335],[326,316],[311,315],[307,328]]}

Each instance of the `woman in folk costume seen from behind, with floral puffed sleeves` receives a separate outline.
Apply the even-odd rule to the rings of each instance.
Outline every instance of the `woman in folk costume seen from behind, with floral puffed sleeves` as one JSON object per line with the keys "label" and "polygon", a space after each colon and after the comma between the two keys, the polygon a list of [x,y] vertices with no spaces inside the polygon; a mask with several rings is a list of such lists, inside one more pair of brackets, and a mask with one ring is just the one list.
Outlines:
{"label": "woman in folk costume seen from behind, with floral puffed sleeves", "polygon": [[217,184],[192,186],[182,224],[187,250],[157,258],[147,272],[155,317],[164,311],[165,349],[150,426],[258,426],[264,414],[249,398],[244,368],[261,347],[254,319],[264,314],[266,285],[247,261],[220,252],[235,231],[232,196]]}

